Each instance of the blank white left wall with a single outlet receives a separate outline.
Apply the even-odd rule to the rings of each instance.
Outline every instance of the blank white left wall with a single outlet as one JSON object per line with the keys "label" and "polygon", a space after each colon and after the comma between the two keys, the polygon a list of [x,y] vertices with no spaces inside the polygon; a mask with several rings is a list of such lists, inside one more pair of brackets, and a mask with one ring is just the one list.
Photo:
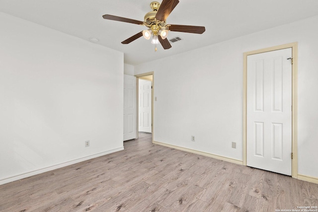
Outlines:
{"label": "blank white left wall with a single outlet", "polygon": [[1,12],[0,29],[0,184],[123,149],[123,53]]}

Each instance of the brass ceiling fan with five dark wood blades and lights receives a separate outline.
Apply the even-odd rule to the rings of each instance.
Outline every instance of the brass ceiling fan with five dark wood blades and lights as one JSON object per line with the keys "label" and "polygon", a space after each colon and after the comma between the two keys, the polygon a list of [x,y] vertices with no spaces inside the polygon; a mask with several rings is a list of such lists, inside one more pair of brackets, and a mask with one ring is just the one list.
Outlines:
{"label": "brass ceiling fan with five dark wood blades and lights", "polygon": [[151,2],[150,7],[153,9],[153,11],[148,12],[145,15],[144,21],[109,14],[103,15],[103,18],[108,20],[134,23],[148,27],[147,30],[143,30],[136,35],[131,36],[127,40],[124,40],[123,42],[121,42],[122,44],[129,44],[142,36],[149,40],[151,36],[153,36],[152,43],[155,44],[155,51],[157,51],[157,43],[159,42],[162,45],[163,49],[170,49],[171,45],[166,39],[168,31],[188,32],[196,34],[202,34],[205,31],[204,26],[166,24],[168,15],[178,3],[179,0],[162,0],[161,5],[158,1]]}

